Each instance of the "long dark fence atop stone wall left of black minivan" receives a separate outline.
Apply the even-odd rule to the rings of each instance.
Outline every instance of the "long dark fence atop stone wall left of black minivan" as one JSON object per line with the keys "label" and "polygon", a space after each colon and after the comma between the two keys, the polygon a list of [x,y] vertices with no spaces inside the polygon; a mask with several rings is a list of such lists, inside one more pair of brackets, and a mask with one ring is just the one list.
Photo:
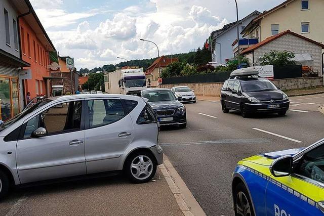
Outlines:
{"label": "long dark fence atop stone wall left of black minivan", "polygon": [[197,74],[192,76],[176,76],[162,79],[163,84],[180,84],[180,83],[201,83],[201,82],[224,82],[228,79],[232,71],[217,73]]}

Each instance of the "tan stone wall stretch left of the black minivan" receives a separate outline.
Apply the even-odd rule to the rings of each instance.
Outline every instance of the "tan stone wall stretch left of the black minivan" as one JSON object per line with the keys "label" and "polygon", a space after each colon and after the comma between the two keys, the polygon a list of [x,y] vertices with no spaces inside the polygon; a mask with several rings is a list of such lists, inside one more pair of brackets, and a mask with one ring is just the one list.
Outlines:
{"label": "tan stone wall stretch left of the black minivan", "polygon": [[175,86],[185,85],[190,89],[194,90],[197,96],[214,96],[219,97],[221,93],[221,88],[223,86],[222,82],[213,83],[182,83],[182,84],[161,84],[160,88],[171,89]]}

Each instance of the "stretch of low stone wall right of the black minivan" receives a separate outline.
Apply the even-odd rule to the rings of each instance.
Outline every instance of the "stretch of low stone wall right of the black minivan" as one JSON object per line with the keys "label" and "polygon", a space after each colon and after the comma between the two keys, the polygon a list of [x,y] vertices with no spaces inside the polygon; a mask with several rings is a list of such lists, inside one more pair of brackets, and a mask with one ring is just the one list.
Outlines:
{"label": "stretch of low stone wall right of the black minivan", "polygon": [[281,90],[323,87],[323,77],[276,79],[272,82]]}

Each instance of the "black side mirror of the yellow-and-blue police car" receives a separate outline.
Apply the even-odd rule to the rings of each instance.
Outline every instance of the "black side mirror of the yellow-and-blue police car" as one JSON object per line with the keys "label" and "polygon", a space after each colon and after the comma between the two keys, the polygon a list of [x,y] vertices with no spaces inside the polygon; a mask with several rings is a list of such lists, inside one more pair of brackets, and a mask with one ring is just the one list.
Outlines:
{"label": "black side mirror of the yellow-and-blue police car", "polygon": [[274,160],[269,169],[274,177],[289,176],[293,168],[293,157],[285,155]]}

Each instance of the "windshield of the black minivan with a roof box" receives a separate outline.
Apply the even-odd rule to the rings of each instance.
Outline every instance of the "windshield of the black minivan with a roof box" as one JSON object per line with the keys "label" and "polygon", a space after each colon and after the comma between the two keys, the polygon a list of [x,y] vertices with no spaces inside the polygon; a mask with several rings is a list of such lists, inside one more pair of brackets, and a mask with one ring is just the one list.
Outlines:
{"label": "windshield of the black minivan with a roof box", "polygon": [[275,85],[267,79],[240,80],[242,92],[262,92],[278,90]]}

